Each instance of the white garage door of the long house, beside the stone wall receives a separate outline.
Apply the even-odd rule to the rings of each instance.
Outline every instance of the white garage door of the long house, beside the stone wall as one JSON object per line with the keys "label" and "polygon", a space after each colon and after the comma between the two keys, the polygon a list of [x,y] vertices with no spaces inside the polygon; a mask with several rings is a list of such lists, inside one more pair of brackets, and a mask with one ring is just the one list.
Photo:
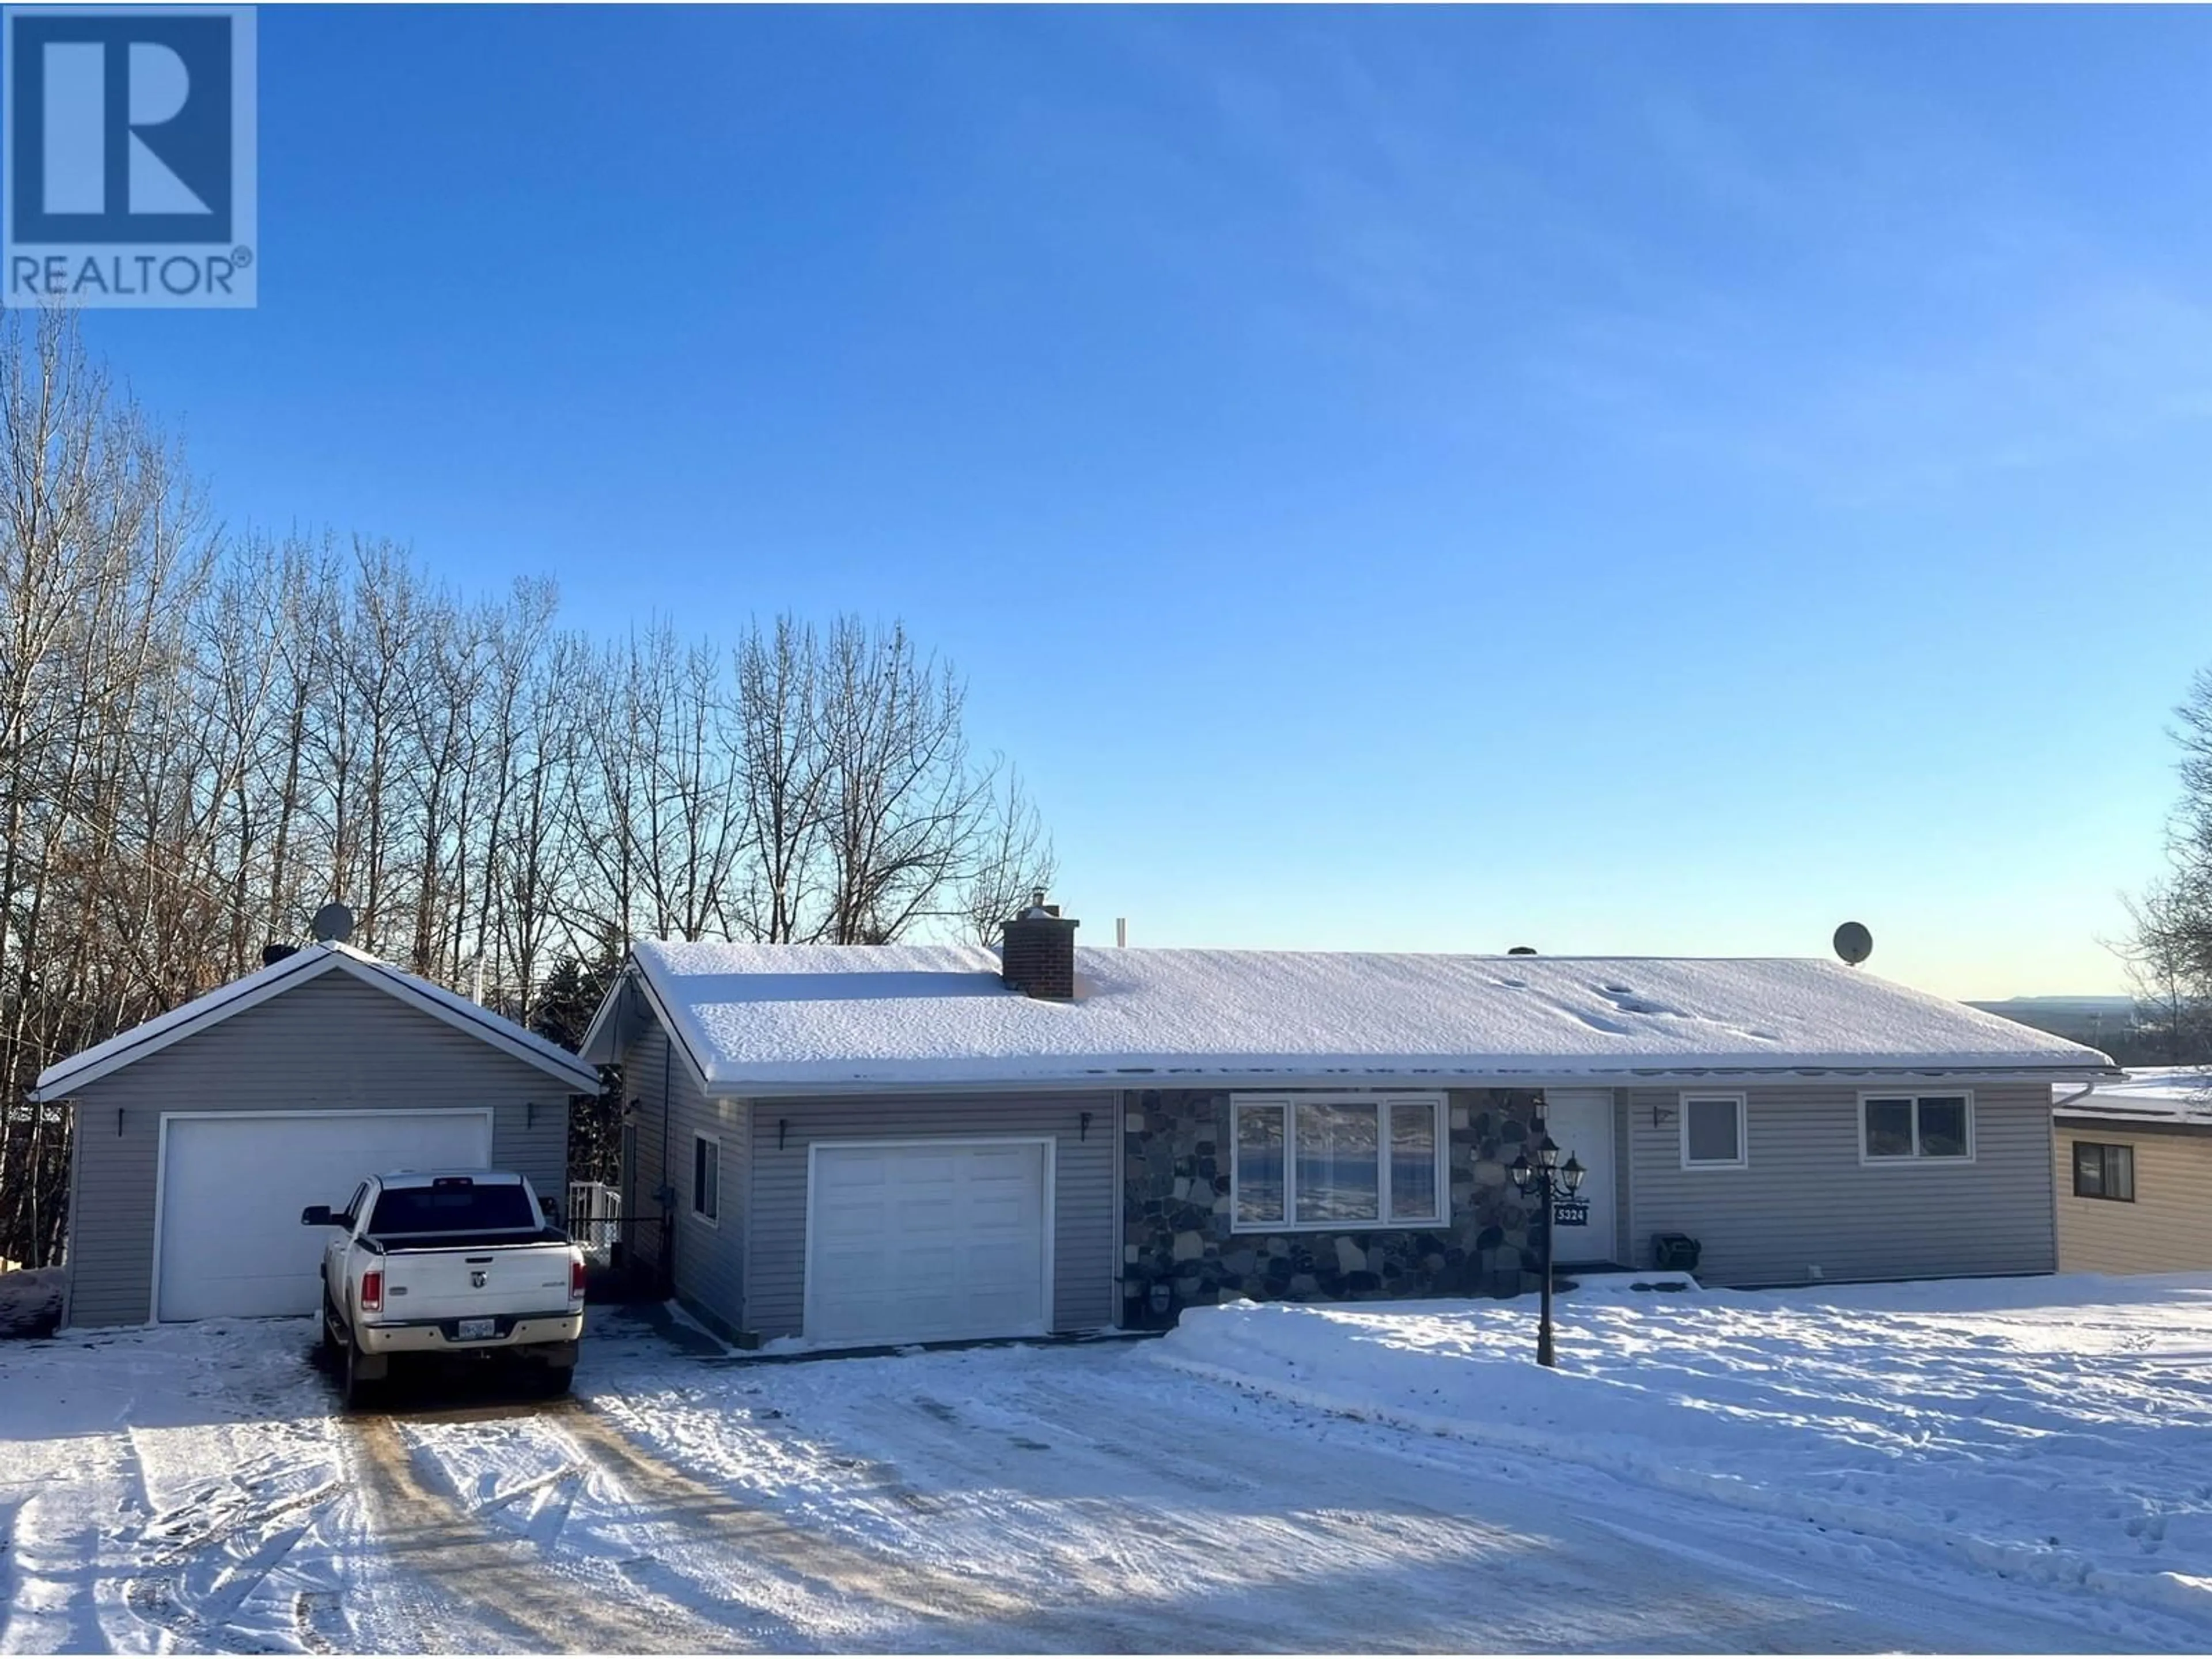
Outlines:
{"label": "white garage door of the long house, beside the stone wall", "polygon": [[812,1159],[807,1340],[1051,1329],[1044,1141],[816,1144]]}

